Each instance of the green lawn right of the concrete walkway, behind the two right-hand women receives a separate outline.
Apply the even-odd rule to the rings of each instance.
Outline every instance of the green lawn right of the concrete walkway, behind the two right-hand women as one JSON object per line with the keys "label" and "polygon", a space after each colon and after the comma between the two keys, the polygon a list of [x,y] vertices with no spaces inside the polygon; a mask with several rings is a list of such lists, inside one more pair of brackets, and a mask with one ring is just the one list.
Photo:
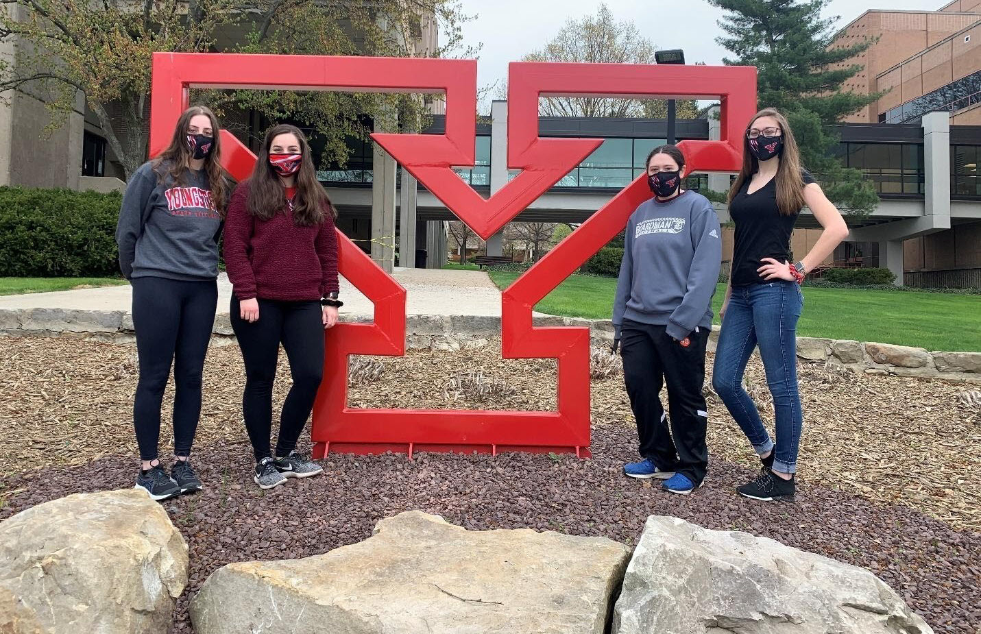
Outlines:
{"label": "green lawn right of the concrete walkway, behind the two right-hand women", "polygon": [[[491,272],[505,289],[517,273]],[[573,275],[535,307],[551,315],[609,319],[616,280]],[[715,323],[725,296],[719,285],[712,300]],[[867,291],[803,287],[802,337],[898,343],[928,350],[981,351],[981,295],[941,292]]]}

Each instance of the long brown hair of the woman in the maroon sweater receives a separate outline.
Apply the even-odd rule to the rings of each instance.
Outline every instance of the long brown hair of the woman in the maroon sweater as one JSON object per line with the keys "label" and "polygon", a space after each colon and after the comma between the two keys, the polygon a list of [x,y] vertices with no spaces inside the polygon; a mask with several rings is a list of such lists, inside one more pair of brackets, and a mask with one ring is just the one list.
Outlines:
{"label": "long brown hair of the woman in the maroon sweater", "polygon": [[300,144],[300,169],[296,173],[296,193],[293,195],[293,222],[299,226],[309,227],[324,222],[325,213],[337,217],[337,210],[331,202],[324,186],[317,181],[317,171],[310,157],[310,144],[306,136],[295,126],[281,124],[266,132],[262,142],[255,169],[249,178],[248,212],[257,218],[270,220],[283,211],[286,204],[286,194],[280,175],[269,164],[269,148],[273,139],[280,134],[292,134]]}

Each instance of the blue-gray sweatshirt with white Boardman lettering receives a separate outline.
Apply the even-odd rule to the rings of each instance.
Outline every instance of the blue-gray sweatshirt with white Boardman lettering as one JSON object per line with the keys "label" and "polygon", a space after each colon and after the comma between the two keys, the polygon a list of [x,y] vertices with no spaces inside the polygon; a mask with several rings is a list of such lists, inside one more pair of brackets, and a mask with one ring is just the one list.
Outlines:
{"label": "blue-gray sweatshirt with white Boardman lettering", "polygon": [[711,328],[721,262],[719,219],[703,195],[688,190],[642,203],[627,223],[613,302],[617,339],[624,318],[667,326],[678,341]]}

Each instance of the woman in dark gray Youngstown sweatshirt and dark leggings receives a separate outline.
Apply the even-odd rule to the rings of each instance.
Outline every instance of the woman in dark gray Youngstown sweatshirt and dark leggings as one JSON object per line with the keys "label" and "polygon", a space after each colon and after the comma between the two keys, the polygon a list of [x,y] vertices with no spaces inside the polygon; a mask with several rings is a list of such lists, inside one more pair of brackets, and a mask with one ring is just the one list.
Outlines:
{"label": "woman in dark gray Youngstown sweatshirt and dark leggings", "polygon": [[[129,179],[116,228],[132,286],[139,356],[133,426],[142,462],[136,488],[154,500],[201,488],[188,456],[201,413],[201,374],[218,304],[218,239],[229,183],[218,121],[188,108],[170,145]],[[160,407],[174,366],[174,468],[157,456]]]}

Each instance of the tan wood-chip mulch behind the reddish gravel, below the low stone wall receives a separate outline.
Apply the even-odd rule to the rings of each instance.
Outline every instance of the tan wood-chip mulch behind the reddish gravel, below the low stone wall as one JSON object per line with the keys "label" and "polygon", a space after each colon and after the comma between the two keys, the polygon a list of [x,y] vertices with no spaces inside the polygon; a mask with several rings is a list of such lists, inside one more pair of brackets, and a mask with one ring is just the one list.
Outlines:
{"label": "tan wood-chip mulch behind the reddish gravel, below the low stone wall", "polygon": [[[554,407],[555,362],[504,360],[495,342],[452,353],[410,350],[403,358],[378,360],[383,369],[375,381],[351,388],[351,405]],[[283,358],[281,364],[278,402],[289,385]],[[765,401],[765,377],[755,358],[747,378],[751,391]],[[247,442],[240,423],[243,377],[236,345],[212,347],[204,380],[196,445]],[[0,338],[0,487],[3,478],[38,465],[135,454],[130,423],[135,383],[132,345]],[[479,384],[490,385],[494,396],[474,396],[481,392],[473,387]],[[801,480],[901,503],[956,528],[981,531],[981,411],[958,402],[964,390],[942,381],[829,373],[801,364]],[[169,389],[165,412],[171,402]],[[712,454],[753,465],[746,438],[712,396],[709,416]],[[772,422],[772,407],[764,407],[763,418]],[[594,381],[593,420],[633,427],[622,377]]]}

